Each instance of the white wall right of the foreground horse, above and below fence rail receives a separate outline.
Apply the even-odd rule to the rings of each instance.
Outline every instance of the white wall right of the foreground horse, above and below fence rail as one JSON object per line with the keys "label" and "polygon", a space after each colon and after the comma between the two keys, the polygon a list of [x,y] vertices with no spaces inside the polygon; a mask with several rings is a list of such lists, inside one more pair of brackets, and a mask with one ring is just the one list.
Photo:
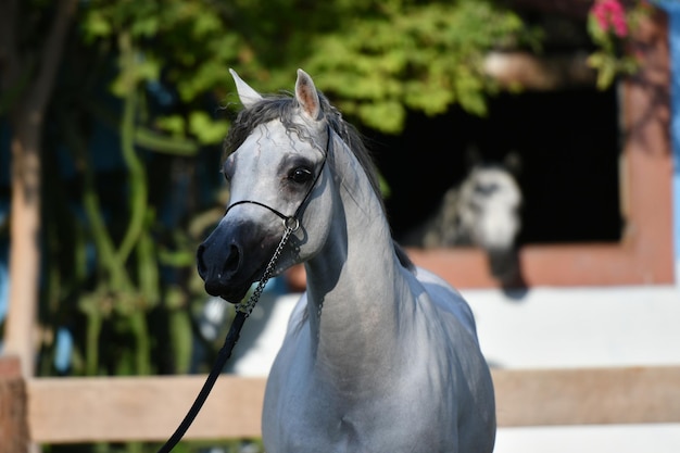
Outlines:
{"label": "white wall right of the foreground horse, above and below fence rail", "polygon": [[[492,365],[680,365],[680,288],[463,291]],[[549,402],[546,402],[549,403]],[[500,428],[495,453],[678,453],[680,424]]]}

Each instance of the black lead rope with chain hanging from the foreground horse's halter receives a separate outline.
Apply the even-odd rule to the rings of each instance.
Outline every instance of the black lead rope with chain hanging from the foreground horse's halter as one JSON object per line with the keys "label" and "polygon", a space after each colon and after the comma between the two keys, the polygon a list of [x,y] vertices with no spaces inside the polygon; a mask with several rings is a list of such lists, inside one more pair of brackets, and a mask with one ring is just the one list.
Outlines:
{"label": "black lead rope with chain hanging from the foreground horse's halter", "polygon": [[276,266],[276,262],[278,261],[279,256],[281,255],[281,252],[284,251],[284,247],[290,239],[290,235],[295,232],[298,228],[300,227],[300,222],[298,221],[295,216],[292,216],[292,217],[287,217],[284,221],[284,225],[286,226],[286,231],[284,232],[284,237],[281,238],[281,241],[279,242],[278,247],[274,251],[274,254],[272,255],[272,260],[269,260],[269,264],[267,264],[267,267],[264,269],[264,274],[262,275],[262,278],[260,279],[257,287],[255,287],[255,290],[253,291],[251,297],[248,298],[247,302],[236,305],[236,316],[234,320],[231,322],[231,326],[229,327],[229,332],[227,334],[227,338],[225,339],[225,342],[222,349],[219,350],[219,353],[217,354],[217,358],[215,360],[215,363],[213,364],[213,368],[210,370],[210,374],[207,375],[207,378],[205,379],[205,383],[203,383],[201,391],[196,397],[196,400],[193,401],[193,404],[189,408],[189,412],[187,412],[187,415],[185,415],[185,418],[181,420],[181,423],[179,424],[179,426],[177,427],[173,436],[171,436],[169,439],[167,439],[167,441],[163,444],[163,446],[161,446],[158,453],[171,452],[175,448],[175,445],[177,445],[177,442],[181,440],[184,435],[187,432],[187,429],[189,429],[189,427],[193,423],[193,419],[199,414],[199,411],[201,411],[201,407],[203,407],[203,403],[205,403],[205,400],[207,399],[210,391],[213,389],[213,386],[215,385],[217,377],[219,376],[225,364],[231,356],[231,351],[234,350],[236,342],[239,340],[239,335],[241,332],[241,328],[243,327],[243,323],[245,323],[245,319],[250,316],[253,309],[255,307],[255,304],[260,300],[260,297],[262,295],[262,291],[264,291],[265,285],[267,284],[267,281],[272,277],[272,274],[274,273],[274,267]]}

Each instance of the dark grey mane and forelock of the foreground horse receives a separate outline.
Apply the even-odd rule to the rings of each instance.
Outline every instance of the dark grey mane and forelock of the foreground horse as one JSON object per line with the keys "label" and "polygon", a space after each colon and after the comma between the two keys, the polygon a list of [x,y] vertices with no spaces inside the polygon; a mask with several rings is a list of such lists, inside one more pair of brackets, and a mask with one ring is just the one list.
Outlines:
{"label": "dark grey mane and forelock of the foreground horse", "polygon": [[[387,216],[385,200],[380,191],[380,180],[378,178],[378,169],[373,161],[368,148],[364,144],[361,134],[350,123],[345,122],[342,114],[336,109],[322,92],[318,92],[322,112],[328,122],[330,128],[342,139],[348,148],[354,153],[354,156],[366,173],[370,186],[380,201],[382,213]],[[261,101],[249,109],[242,109],[236,119],[231,123],[229,131],[224,141],[225,158],[235,152],[245,141],[248,136],[260,125],[274,119],[279,119],[288,133],[295,133],[301,140],[313,142],[310,133],[300,124],[293,122],[298,101],[290,95],[268,95],[263,97]],[[400,263],[410,269],[414,268],[406,253],[401,247],[394,243],[394,249]]]}

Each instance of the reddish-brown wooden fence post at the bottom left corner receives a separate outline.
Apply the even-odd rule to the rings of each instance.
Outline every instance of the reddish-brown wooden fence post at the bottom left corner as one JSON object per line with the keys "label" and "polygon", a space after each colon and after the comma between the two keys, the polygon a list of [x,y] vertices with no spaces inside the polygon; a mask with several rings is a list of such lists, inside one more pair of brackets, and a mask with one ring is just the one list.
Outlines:
{"label": "reddish-brown wooden fence post at the bottom left corner", "polygon": [[0,355],[0,453],[28,452],[26,381],[15,356]]}

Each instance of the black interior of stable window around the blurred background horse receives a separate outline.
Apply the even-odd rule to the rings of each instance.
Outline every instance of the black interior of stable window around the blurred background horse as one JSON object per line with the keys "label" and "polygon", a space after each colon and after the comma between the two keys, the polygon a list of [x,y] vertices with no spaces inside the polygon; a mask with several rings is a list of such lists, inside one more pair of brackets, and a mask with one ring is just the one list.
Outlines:
{"label": "black interior of stable window around the blurred background horse", "polygon": [[411,113],[399,137],[367,133],[391,188],[395,238],[438,207],[467,174],[470,155],[503,162],[515,153],[524,194],[520,243],[618,241],[618,111],[614,88],[502,93],[483,118],[454,108],[437,117]]}

